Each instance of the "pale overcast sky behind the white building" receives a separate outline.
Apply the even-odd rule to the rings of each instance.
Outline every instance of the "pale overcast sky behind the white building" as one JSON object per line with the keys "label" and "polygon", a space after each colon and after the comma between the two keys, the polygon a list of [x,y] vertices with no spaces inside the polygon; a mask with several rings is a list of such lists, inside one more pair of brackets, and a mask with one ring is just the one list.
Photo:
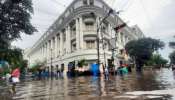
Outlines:
{"label": "pale overcast sky behind the white building", "polygon": [[[38,32],[32,36],[22,34],[22,40],[13,44],[23,49],[31,47],[73,0],[33,0],[33,25]],[[104,0],[115,10],[123,10],[120,17],[137,24],[144,34],[166,43],[175,35],[175,0]],[[168,58],[172,50],[166,46],[161,54]]]}

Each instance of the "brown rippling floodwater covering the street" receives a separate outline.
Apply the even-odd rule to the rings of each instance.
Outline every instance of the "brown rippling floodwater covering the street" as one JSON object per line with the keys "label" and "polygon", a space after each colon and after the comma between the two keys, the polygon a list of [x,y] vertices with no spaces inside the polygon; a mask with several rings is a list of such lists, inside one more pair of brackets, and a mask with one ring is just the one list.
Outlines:
{"label": "brown rippling floodwater covering the street", "polygon": [[[6,88],[6,89],[4,89]],[[146,70],[143,74],[28,80],[15,95],[0,86],[0,100],[175,100],[175,72]]]}

